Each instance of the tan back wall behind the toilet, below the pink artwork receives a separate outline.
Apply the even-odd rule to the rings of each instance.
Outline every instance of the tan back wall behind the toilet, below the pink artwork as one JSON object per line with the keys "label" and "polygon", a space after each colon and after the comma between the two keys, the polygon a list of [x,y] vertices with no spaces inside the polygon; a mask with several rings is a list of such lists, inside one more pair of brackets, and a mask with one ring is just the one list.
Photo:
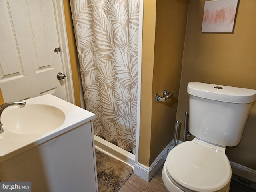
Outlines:
{"label": "tan back wall behind the toilet, below the pink artwork", "polygon": [[[240,0],[234,33],[202,33],[205,0],[190,0],[177,120],[188,111],[190,81],[256,89],[256,1]],[[241,143],[228,147],[228,158],[256,170],[256,104]],[[181,132],[180,140],[182,140]]]}

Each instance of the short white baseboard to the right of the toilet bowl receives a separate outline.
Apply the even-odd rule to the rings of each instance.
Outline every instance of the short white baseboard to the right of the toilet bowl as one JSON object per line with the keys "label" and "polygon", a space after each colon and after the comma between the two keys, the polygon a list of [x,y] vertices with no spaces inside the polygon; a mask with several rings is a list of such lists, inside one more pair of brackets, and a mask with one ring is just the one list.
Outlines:
{"label": "short white baseboard to the right of the toilet bowl", "polygon": [[256,183],[256,170],[250,169],[232,161],[230,161],[230,165],[233,174]]}

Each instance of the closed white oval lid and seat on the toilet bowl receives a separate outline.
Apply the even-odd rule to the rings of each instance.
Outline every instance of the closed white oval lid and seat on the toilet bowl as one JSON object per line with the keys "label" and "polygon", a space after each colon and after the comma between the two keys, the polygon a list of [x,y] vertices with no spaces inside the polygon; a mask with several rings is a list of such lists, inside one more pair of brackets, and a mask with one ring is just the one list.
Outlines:
{"label": "closed white oval lid and seat on the toilet bowl", "polygon": [[182,189],[218,191],[229,184],[231,166],[218,150],[186,141],[173,148],[166,158],[168,176]]}

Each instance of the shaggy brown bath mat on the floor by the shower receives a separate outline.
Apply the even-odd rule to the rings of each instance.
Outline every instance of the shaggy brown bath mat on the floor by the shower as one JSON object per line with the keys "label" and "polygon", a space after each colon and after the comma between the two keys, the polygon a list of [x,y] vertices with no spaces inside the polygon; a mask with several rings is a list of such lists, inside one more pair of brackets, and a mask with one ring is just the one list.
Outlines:
{"label": "shaggy brown bath mat on the floor by the shower", "polygon": [[96,150],[99,192],[117,192],[132,174],[127,164]]}

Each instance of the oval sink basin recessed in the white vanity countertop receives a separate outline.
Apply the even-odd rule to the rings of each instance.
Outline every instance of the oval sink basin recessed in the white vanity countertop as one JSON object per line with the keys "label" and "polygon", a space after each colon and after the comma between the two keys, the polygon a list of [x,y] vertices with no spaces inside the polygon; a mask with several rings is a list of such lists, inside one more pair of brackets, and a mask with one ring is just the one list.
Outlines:
{"label": "oval sink basin recessed in the white vanity countertop", "polygon": [[38,134],[54,130],[65,121],[65,114],[46,104],[26,104],[25,107],[9,106],[1,116],[4,131],[18,134]]}

